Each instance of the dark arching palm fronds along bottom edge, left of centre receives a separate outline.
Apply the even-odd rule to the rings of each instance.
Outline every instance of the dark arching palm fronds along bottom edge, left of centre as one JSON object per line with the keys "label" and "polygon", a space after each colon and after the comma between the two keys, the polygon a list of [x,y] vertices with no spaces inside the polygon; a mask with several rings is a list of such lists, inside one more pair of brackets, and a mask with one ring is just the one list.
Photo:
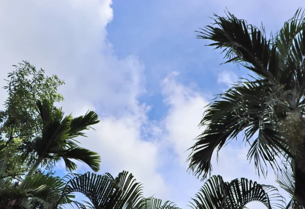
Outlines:
{"label": "dark arching palm fronds along bottom edge, left of centre", "polygon": [[[128,171],[122,171],[116,178],[110,173],[84,173],[66,176],[67,185],[62,193],[67,196],[74,192],[84,194],[90,208],[105,209],[179,209],[170,201],[142,196],[142,184]],[[60,199],[59,199],[60,200]]]}

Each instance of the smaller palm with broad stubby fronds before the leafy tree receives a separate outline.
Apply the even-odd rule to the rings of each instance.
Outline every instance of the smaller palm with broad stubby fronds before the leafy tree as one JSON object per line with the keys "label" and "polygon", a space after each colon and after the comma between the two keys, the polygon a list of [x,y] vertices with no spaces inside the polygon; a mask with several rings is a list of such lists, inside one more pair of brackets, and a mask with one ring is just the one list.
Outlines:
{"label": "smaller palm with broad stubby fronds before the leafy tree", "polygon": [[65,161],[66,168],[70,171],[77,168],[70,159],[82,161],[98,171],[101,157],[96,152],[79,147],[75,140],[77,136],[85,136],[81,131],[99,122],[97,114],[90,111],[76,118],[71,115],[64,117],[62,109],[52,107],[48,100],[38,101],[37,106],[43,121],[42,135],[37,136],[34,141],[24,142],[20,147],[24,158],[31,155],[31,159],[35,159],[27,176],[32,176],[41,163],[50,164],[60,159]]}

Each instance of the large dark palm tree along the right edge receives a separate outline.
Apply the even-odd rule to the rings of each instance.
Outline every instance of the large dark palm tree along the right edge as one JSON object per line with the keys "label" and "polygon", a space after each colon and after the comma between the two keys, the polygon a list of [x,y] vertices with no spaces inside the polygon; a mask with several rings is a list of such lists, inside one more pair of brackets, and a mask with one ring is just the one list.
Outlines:
{"label": "large dark palm tree along the right edge", "polygon": [[291,164],[293,198],[305,207],[304,13],[297,10],[270,38],[263,26],[259,29],[229,12],[226,17],[215,15],[214,21],[197,31],[198,38],[222,49],[225,63],[237,63],[255,76],[240,79],[207,106],[200,122],[206,128],[190,148],[189,169],[205,179],[214,150],[244,132],[243,142],[250,144],[247,159],[254,160],[259,175],[266,175],[267,163],[275,171],[282,162]]}

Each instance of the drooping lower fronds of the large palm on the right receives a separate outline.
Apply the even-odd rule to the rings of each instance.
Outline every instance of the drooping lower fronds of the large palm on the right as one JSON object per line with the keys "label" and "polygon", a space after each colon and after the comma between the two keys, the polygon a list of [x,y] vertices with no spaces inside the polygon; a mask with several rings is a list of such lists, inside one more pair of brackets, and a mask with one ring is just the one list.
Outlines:
{"label": "drooping lower fronds of the large palm on the right", "polygon": [[[254,160],[255,166],[263,176],[266,175],[266,163],[278,168],[276,155],[291,155],[285,147],[278,131],[274,113],[285,114],[290,109],[277,94],[263,81],[237,83],[224,94],[217,97],[205,111],[200,126],[205,130],[199,135],[188,161],[189,169],[202,179],[211,171],[210,160],[215,149],[217,152],[238,134],[245,132],[244,141],[251,144],[248,159]],[[277,107],[281,107],[280,109]],[[258,133],[254,142],[251,139]]]}

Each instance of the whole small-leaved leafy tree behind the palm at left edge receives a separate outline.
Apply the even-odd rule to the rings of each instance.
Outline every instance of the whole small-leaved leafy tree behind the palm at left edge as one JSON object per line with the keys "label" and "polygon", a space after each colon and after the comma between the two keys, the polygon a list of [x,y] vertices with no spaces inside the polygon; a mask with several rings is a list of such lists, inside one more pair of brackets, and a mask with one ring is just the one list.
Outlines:
{"label": "whole small-leaved leafy tree behind the palm at left edge", "polygon": [[0,145],[8,152],[7,184],[14,178],[19,179],[31,164],[28,158],[21,160],[18,147],[24,141],[32,141],[41,134],[42,121],[37,112],[36,101],[48,99],[51,105],[64,98],[57,93],[57,88],[64,82],[57,76],[47,77],[44,70],[37,70],[26,61],[14,65],[15,71],[9,73],[8,92],[5,109],[0,111]]}

